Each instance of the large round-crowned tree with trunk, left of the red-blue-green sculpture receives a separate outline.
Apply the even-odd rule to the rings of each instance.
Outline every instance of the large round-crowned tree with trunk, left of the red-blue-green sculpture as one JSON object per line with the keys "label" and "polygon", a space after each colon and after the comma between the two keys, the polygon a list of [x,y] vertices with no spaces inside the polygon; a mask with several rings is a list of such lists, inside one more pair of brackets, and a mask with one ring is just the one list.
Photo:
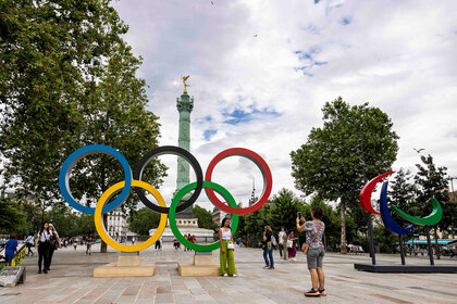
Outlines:
{"label": "large round-crowned tree with trunk, left of the red-blue-green sculpture", "polygon": [[360,208],[358,197],[368,179],[391,170],[398,151],[393,123],[368,103],[350,106],[339,97],[322,109],[323,127],[291,152],[297,189],[338,201],[342,252],[346,246],[346,208]]}

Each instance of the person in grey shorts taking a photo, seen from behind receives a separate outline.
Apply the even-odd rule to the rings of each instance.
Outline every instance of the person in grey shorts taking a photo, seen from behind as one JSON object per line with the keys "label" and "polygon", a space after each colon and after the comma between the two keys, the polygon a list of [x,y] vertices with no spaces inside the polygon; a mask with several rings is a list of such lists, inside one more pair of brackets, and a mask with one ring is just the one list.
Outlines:
{"label": "person in grey shorts taking a photo, seen from behind", "polygon": [[[321,220],[323,210],[321,206],[313,206],[311,210],[312,220],[306,221],[304,217],[297,218],[298,231],[306,231],[306,243],[309,244],[307,253],[307,263],[309,274],[311,275],[311,289],[305,292],[306,296],[326,295],[325,277],[322,269],[322,259],[324,256],[324,245],[322,236],[325,231],[325,224]],[[304,223],[304,225],[300,225]]]}

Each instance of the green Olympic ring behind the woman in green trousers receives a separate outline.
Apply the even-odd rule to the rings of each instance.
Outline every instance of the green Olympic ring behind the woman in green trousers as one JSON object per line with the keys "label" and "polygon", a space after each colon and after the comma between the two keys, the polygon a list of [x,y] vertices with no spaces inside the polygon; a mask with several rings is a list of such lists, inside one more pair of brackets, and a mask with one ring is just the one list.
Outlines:
{"label": "green Olympic ring behind the woman in green trousers", "polygon": [[[183,187],[183,189],[181,189],[180,191],[177,191],[176,195],[174,195],[171,206],[170,206],[170,213],[169,213],[169,219],[170,219],[170,228],[172,229],[173,235],[176,237],[176,239],[186,248],[189,248],[192,250],[195,251],[199,251],[199,252],[210,252],[213,250],[217,250],[221,246],[221,243],[219,241],[209,244],[209,245],[199,245],[199,244],[195,244],[188,240],[186,240],[184,238],[184,236],[181,233],[180,229],[177,229],[177,225],[176,225],[176,206],[177,203],[180,202],[180,200],[190,190],[195,189],[197,187],[197,182],[193,182],[187,185],[186,187]],[[218,192],[219,194],[221,194],[222,197],[224,197],[224,199],[228,202],[228,205],[232,207],[237,207],[235,199],[232,197],[232,194],[225,189],[223,188],[221,185],[218,185],[215,182],[211,182],[211,181],[203,181],[203,187],[208,187],[211,188],[212,190],[214,190],[215,192]],[[232,235],[235,233],[236,228],[238,227],[238,219],[239,216],[237,214],[233,215],[232,218]]]}

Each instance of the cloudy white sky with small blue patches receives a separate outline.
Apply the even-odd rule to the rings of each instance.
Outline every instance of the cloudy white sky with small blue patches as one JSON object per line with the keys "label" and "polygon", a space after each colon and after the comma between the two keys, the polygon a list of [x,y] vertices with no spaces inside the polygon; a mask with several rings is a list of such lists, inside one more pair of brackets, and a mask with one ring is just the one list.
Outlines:
{"label": "cloudy white sky with small blue patches", "polygon": [[[125,39],[144,58],[148,107],[161,144],[177,144],[176,97],[190,75],[192,152],[203,172],[224,149],[260,154],[273,192],[294,189],[289,152],[322,125],[325,101],[342,96],[390,115],[400,137],[394,169],[423,148],[457,176],[457,1],[123,0]],[[175,156],[161,187],[175,189]],[[246,202],[262,188],[259,169],[230,157],[213,181]],[[455,180],[457,188],[457,180]],[[297,190],[294,190],[300,194]],[[199,204],[212,208],[205,195]]]}

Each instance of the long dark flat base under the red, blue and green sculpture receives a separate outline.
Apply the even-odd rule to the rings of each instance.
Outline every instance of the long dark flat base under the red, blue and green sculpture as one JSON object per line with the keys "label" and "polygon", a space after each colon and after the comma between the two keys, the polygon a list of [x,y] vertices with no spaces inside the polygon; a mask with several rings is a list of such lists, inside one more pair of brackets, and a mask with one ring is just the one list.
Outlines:
{"label": "long dark flat base under the red, blue and green sculpture", "polygon": [[369,273],[416,273],[416,274],[453,274],[457,273],[454,265],[372,265],[354,264],[357,270]]}

